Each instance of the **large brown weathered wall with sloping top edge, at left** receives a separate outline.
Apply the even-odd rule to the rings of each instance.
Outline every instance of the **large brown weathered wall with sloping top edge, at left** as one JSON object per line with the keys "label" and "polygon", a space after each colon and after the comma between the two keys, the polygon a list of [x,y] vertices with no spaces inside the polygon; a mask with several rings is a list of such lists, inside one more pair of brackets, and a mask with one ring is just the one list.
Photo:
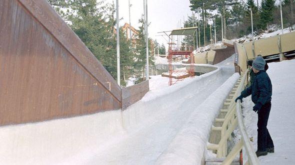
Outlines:
{"label": "large brown weathered wall with sloping top edge, at left", "polygon": [[0,126],[120,107],[120,87],[46,0],[0,0]]}

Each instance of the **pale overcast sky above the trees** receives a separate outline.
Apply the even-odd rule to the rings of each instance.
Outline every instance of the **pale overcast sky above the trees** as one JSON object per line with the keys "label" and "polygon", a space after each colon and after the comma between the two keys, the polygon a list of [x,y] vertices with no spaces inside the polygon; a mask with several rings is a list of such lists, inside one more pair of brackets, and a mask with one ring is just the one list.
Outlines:
{"label": "pale overcast sky above the trees", "polygon": [[[107,2],[114,2],[115,0],[106,0]],[[119,17],[120,25],[125,22],[129,23],[128,16],[128,0],[119,1]],[[244,0],[246,1],[246,0]],[[261,0],[258,0],[261,3]],[[278,3],[279,0],[276,0]],[[254,0],[256,2],[256,0]],[[143,0],[130,0],[132,4],[131,12],[131,25],[138,29],[138,19],[143,14]],[[148,33],[149,37],[156,39],[159,43],[166,43],[167,41],[157,32],[169,31],[177,28],[177,22],[186,20],[187,15],[191,15],[192,11],[189,8],[189,0],[147,0],[148,4],[148,21],[150,22]],[[167,39],[167,37],[165,37]]]}

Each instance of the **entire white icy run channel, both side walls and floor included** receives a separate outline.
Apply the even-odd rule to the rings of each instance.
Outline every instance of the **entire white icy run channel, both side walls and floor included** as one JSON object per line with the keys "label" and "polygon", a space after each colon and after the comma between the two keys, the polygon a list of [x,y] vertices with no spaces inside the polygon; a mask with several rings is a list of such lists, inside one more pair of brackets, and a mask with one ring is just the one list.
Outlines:
{"label": "entire white icy run channel, both side walls and floor included", "polygon": [[213,119],[239,77],[233,57],[216,67],[151,90],[125,111],[0,127],[0,164],[200,164]]}

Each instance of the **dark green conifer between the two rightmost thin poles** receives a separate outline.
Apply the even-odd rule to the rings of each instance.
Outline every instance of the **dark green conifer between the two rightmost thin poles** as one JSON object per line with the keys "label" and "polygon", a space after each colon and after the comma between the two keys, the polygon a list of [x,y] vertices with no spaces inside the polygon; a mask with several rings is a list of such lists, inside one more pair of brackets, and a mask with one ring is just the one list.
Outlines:
{"label": "dark green conifer between the two rightmost thin poles", "polygon": [[266,29],[268,23],[273,20],[273,11],[275,9],[274,6],[275,0],[262,0],[261,2],[261,13],[260,13],[260,23],[261,29]]}

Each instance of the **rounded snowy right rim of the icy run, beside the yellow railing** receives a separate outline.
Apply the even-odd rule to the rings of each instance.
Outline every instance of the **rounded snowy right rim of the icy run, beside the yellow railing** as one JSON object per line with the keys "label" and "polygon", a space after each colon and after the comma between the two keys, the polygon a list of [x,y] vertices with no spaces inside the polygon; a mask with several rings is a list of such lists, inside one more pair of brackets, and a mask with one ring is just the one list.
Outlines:
{"label": "rounded snowy right rim of the icy run, beside the yellow railing", "polygon": [[196,108],[167,150],[158,158],[157,165],[200,165],[204,162],[212,123],[238,78],[237,73],[233,74]]}

